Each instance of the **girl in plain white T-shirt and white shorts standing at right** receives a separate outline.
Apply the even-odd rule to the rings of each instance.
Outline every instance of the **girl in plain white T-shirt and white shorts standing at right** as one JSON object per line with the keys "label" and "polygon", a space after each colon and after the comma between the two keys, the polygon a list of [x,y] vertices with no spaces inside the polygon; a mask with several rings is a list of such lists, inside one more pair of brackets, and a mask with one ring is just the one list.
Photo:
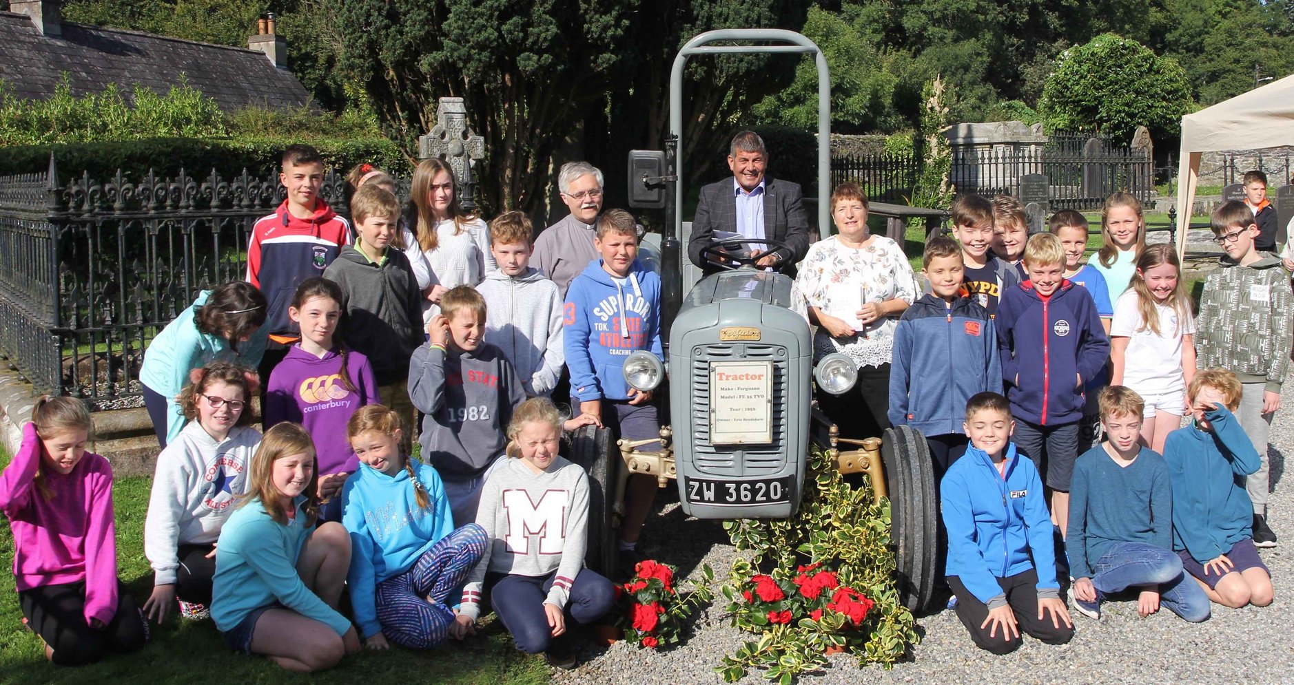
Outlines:
{"label": "girl in plain white T-shirt and white shorts standing at right", "polygon": [[1141,442],[1163,454],[1163,441],[1181,425],[1185,389],[1196,372],[1196,322],[1171,244],[1148,246],[1110,323],[1110,385],[1126,385],[1145,401]]}

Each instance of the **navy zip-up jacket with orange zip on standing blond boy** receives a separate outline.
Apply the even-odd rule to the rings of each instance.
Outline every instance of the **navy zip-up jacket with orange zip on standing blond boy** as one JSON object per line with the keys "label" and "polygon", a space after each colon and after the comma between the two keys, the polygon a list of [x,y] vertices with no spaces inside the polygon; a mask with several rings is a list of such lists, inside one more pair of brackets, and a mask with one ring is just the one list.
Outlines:
{"label": "navy zip-up jacket with orange zip on standing blond boy", "polygon": [[1083,393],[1100,385],[1110,354],[1091,295],[1065,279],[1043,299],[1025,280],[1002,293],[996,324],[1012,416],[1038,425],[1079,420]]}

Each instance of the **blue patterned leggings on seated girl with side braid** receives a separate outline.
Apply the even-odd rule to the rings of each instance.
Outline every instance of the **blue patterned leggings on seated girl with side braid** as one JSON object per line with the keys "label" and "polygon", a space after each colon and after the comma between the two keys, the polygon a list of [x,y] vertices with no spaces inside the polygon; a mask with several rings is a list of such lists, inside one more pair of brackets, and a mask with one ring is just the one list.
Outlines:
{"label": "blue patterned leggings on seated girl with side braid", "polygon": [[445,535],[405,573],[378,584],[378,622],[387,640],[409,649],[445,641],[454,611],[445,598],[462,587],[485,553],[485,529],[468,523]]}

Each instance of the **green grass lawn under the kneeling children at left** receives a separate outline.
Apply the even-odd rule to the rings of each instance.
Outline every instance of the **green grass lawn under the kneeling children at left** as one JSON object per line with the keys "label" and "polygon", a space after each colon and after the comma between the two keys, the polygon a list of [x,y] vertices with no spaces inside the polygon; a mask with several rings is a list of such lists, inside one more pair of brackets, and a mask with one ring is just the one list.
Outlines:
{"label": "green grass lawn under the kneeling children at left", "polygon": [[[0,464],[9,455],[0,450]],[[140,604],[153,588],[153,573],[144,557],[144,516],[151,478],[120,478],[114,487],[116,511],[118,571]],[[8,523],[8,521],[5,521]],[[0,567],[13,569],[13,538],[0,525]],[[173,615],[173,614],[172,614]],[[181,622],[172,618],[153,626],[153,642],[142,651],[84,668],[60,668],[45,662],[44,645],[22,624],[13,575],[0,578],[0,682],[107,682],[132,679],[141,682],[411,682],[538,684],[549,681],[542,658],[527,657],[512,646],[498,622],[475,640],[418,653],[392,648],[348,657],[342,666],[311,676],[289,673],[263,657],[234,654],[210,620]]]}

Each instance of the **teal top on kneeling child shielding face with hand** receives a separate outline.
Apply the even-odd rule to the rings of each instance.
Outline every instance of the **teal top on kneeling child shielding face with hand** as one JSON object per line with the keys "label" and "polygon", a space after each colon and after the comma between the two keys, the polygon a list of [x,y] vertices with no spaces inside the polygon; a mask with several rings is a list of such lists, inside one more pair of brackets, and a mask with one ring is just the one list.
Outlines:
{"label": "teal top on kneeling child shielding face with hand", "polygon": [[1205,419],[1211,433],[1192,423],[1163,441],[1172,480],[1172,549],[1185,549],[1200,564],[1253,538],[1254,503],[1245,477],[1262,464],[1253,441],[1227,407],[1206,412]]}

